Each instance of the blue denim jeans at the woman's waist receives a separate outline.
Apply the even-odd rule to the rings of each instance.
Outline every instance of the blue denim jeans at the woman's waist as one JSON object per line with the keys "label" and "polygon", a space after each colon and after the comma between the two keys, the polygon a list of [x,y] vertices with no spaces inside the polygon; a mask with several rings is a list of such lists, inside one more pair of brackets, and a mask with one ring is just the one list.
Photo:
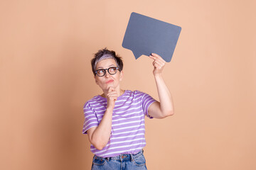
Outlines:
{"label": "blue denim jeans at the woman's waist", "polygon": [[145,170],[146,160],[143,155],[143,150],[137,154],[120,154],[117,157],[97,157],[96,155],[92,160],[92,170],[105,169],[105,170]]}

